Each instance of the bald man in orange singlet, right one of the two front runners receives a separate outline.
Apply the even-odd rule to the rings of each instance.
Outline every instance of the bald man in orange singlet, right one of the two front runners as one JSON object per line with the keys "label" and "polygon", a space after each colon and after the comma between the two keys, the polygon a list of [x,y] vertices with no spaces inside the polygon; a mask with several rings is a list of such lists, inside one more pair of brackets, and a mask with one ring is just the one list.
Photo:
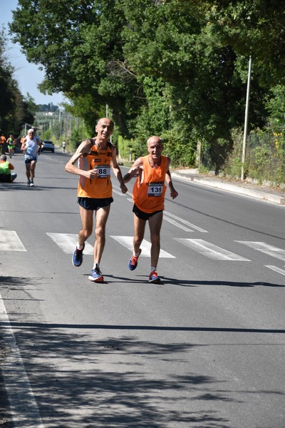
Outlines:
{"label": "bald man in orange singlet, right one of the two front runners", "polygon": [[147,140],[147,156],[138,158],[132,168],[125,174],[123,180],[128,183],[131,178],[137,177],[133,187],[133,213],[135,236],[133,239],[133,255],[129,260],[130,270],[135,270],[138,257],[141,253],[140,244],[145,235],[145,224],[150,227],[150,277],[149,282],[160,283],[157,275],[157,263],[160,255],[160,229],[163,210],[165,209],[165,192],[167,182],[172,199],[178,193],[173,187],[170,175],[170,158],[162,156],[162,139],[152,136]]}

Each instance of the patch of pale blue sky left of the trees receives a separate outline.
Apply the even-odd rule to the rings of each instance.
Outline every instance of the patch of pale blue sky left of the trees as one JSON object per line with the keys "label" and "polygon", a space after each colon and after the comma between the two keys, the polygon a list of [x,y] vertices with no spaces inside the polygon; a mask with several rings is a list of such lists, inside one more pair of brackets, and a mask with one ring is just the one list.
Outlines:
{"label": "patch of pale blue sky left of the trees", "polygon": [[[13,19],[12,11],[16,10],[18,0],[0,0],[0,26],[5,26],[8,33],[8,22]],[[44,71],[38,70],[38,65],[28,63],[26,56],[21,54],[19,44],[13,44],[11,41],[7,44],[6,52],[9,62],[14,66],[14,78],[18,82],[19,89],[23,96],[27,93],[31,95],[36,104],[48,104],[58,106],[64,100],[62,93],[54,93],[52,96],[43,95],[38,91],[37,85],[44,78]]]}

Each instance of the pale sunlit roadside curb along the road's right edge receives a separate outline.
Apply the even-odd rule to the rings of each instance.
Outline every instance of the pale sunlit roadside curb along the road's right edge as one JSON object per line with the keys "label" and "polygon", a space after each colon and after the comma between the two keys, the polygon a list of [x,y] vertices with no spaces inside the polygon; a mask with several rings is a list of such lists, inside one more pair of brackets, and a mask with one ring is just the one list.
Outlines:
{"label": "pale sunlit roadside curb along the road's right edge", "polygon": [[279,205],[285,205],[285,197],[280,195],[273,195],[272,193],[260,192],[259,190],[253,190],[241,187],[239,185],[222,183],[218,180],[211,180],[208,178],[197,177],[196,175],[190,176],[190,174],[180,174],[171,172],[172,177],[184,178],[185,180],[193,181],[197,184],[207,185],[212,188],[219,188],[222,190],[227,190],[232,193],[238,193],[240,195],[250,196],[252,198],[257,198],[261,200],[268,200],[269,202],[276,203]]}

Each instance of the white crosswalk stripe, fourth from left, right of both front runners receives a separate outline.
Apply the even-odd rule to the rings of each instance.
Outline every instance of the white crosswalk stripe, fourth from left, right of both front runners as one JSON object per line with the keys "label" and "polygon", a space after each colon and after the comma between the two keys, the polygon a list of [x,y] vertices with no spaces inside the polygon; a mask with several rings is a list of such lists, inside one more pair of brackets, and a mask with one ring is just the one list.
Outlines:
{"label": "white crosswalk stripe, fourth from left, right of both front runners", "polygon": [[223,248],[217,247],[217,245],[207,243],[202,239],[189,239],[189,238],[174,238],[178,242],[182,243],[188,248],[197,251],[198,253],[212,258],[214,260],[242,260],[244,262],[249,262],[249,259],[231,253]]}

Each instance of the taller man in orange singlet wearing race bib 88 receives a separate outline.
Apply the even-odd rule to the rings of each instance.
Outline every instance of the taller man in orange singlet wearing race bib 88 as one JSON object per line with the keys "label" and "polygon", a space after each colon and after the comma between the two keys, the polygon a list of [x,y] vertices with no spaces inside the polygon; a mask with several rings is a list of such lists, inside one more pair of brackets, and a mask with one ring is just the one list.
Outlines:
{"label": "taller man in orange singlet wearing race bib 88", "polygon": [[[116,158],[116,148],[108,138],[112,135],[114,123],[108,118],[100,118],[95,131],[97,136],[83,141],[76,153],[66,164],[68,173],[79,175],[78,204],[81,214],[82,229],[78,233],[78,243],[73,253],[73,266],[79,267],[83,262],[85,242],[93,230],[93,213],[95,211],[94,265],[88,277],[94,282],[103,282],[100,260],[105,246],[105,225],[113,202],[110,168],[118,178],[120,189],[128,189]],[[74,165],[78,161],[78,166]]]}

